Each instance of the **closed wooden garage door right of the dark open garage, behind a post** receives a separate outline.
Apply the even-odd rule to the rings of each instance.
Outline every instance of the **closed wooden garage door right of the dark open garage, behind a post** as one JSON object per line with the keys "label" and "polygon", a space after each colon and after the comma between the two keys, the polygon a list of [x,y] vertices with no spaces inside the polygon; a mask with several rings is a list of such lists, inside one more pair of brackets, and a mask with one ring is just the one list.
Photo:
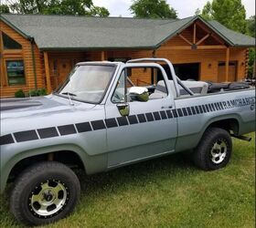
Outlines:
{"label": "closed wooden garage door right of the dark open garage, behind a post", "polygon": [[[219,62],[218,67],[218,82],[225,82],[226,70],[225,62]],[[237,61],[229,62],[229,81],[237,80]]]}

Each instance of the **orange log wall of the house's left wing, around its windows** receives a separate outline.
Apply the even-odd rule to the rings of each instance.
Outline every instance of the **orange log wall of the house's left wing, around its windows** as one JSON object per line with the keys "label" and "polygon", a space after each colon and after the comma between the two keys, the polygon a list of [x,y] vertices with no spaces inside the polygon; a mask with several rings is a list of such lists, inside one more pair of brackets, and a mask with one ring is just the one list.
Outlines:
{"label": "orange log wall of the house's left wing, around its windows", "polygon": [[[31,51],[31,43],[24,36],[19,35],[10,26],[5,25],[0,21],[0,31],[4,32],[7,36],[16,40],[22,46],[21,50],[4,50],[3,43],[1,42],[1,98],[14,97],[16,90],[22,88],[25,92],[35,89],[35,74],[33,67],[33,57]],[[39,50],[36,45],[34,45],[35,51],[35,62],[37,70],[37,88],[44,88],[45,84],[43,81],[42,63],[40,60]],[[26,85],[18,86],[8,86],[7,76],[5,70],[5,60],[6,59],[23,59],[25,67],[25,78]]]}

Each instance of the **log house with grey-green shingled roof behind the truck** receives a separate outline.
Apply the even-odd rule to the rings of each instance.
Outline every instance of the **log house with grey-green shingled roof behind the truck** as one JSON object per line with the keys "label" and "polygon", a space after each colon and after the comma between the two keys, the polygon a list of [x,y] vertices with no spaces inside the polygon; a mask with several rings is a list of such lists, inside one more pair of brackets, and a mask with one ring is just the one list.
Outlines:
{"label": "log house with grey-green shingled roof behind the truck", "polygon": [[[1,98],[58,88],[80,61],[165,57],[181,79],[240,81],[255,39],[200,16],[137,19],[87,16],[0,16]],[[165,66],[163,66],[165,67]],[[139,78],[137,84],[148,78]],[[136,79],[136,78],[135,78]]]}

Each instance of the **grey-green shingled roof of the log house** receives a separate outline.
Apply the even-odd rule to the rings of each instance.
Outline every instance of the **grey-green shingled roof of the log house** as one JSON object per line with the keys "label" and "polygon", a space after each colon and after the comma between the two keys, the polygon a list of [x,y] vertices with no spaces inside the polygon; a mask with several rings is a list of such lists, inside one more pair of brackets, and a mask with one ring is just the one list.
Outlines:
{"label": "grey-green shingled roof of the log house", "polygon": [[200,16],[184,19],[124,17],[1,15],[22,36],[34,38],[40,49],[108,49],[160,47],[199,19],[231,47],[254,47],[255,39]]}

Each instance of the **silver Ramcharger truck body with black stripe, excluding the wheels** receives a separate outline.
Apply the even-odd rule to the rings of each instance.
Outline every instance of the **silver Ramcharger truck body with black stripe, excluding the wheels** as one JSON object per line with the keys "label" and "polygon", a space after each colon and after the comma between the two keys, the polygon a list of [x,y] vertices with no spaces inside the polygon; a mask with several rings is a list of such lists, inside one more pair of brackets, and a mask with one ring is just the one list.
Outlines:
{"label": "silver Ramcharger truck body with black stripe, excluding the wheels", "polygon": [[[158,61],[170,67],[172,78]],[[129,78],[130,68],[154,68],[162,78],[137,87]],[[91,78],[83,76],[87,72],[99,84],[103,77],[103,89],[93,88]],[[93,89],[84,92],[84,80]],[[208,88],[202,91],[205,87],[205,82],[179,80],[166,59],[144,58],[80,63],[56,93],[3,99],[1,192],[12,174],[16,177],[34,161],[79,164],[93,174],[196,149],[210,127],[235,137],[255,130],[254,88],[208,93]]]}

